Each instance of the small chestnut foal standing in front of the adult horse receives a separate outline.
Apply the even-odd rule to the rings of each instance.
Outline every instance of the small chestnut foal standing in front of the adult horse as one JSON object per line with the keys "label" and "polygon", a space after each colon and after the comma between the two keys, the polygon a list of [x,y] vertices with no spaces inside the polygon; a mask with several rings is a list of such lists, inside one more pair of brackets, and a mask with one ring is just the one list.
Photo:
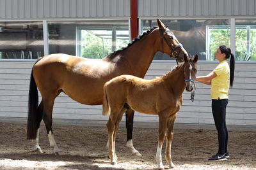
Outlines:
{"label": "small chestnut foal standing in front of the adult horse", "polygon": [[[166,161],[170,168],[174,167],[171,157],[171,145],[173,138],[173,125],[177,112],[182,105],[182,93],[184,89],[188,92],[193,90],[193,83],[196,75],[195,58],[187,59],[185,62],[161,78],[144,80],[136,76],[122,75],[108,81],[104,85],[103,115],[109,115],[108,140],[109,158],[111,164],[116,164],[115,138],[118,124],[127,108],[146,113],[158,115],[159,136],[156,153],[156,162],[159,169],[164,169],[161,157],[161,150],[166,137]],[[116,90],[118,89],[118,90]],[[147,141],[145,141],[147,142]]]}

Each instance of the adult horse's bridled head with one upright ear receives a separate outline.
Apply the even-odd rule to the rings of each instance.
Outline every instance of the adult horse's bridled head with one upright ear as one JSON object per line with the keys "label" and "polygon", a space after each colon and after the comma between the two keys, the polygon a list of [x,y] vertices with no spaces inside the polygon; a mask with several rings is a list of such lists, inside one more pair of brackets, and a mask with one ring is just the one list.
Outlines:
{"label": "adult horse's bridled head with one upright ear", "polygon": [[174,57],[179,62],[183,61],[183,55],[188,57],[188,52],[183,48],[182,44],[179,43],[172,31],[168,29],[161,20],[157,19],[159,31],[162,36],[162,49],[164,53],[168,53],[170,57]]}

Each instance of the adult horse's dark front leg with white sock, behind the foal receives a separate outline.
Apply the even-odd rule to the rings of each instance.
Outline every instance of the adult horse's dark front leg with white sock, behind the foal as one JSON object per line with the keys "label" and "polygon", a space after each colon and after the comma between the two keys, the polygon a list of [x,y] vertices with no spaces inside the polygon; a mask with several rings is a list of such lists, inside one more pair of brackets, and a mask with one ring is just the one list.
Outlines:
{"label": "adult horse's dark front leg with white sock, behind the foal", "polygon": [[131,110],[131,108],[127,109],[127,111],[125,111],[125,123],[126,123],[126,130],[127,130],[126,147],[131,151],[132,155],[141,157],[140,152],[138,152],[138,150],[136,150],[132,144],[133,117],[134,117],[134,110]]}

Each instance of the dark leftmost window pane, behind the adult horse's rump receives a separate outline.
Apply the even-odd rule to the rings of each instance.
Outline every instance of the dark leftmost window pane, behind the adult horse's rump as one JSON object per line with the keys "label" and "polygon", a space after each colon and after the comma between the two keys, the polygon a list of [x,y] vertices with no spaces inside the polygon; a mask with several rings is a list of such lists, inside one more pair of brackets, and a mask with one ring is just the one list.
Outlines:
{"label": "dark leftmost window pane, behind the adult horse's rump", "polygon": [[42,22],[0,22],[1,59],[37,59],[44,56]]}

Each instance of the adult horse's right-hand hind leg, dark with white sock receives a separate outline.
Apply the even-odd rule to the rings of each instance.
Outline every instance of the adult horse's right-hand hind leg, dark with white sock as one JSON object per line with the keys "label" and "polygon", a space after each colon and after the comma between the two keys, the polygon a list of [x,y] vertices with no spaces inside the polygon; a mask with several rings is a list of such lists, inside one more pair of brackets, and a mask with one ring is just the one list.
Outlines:
{"label": "adult horse's right-hand hind leg, dark with white sock", "polygon": [[58,155],[60,152],[60,149],[56,145],[54,136],[52,134],[52,109],[53,109],[53,103],[54,103],[55,97],[49,97],[47,99],[44,99],[44,124],[47,130],[50,146],[54,149],[54,154]]}

